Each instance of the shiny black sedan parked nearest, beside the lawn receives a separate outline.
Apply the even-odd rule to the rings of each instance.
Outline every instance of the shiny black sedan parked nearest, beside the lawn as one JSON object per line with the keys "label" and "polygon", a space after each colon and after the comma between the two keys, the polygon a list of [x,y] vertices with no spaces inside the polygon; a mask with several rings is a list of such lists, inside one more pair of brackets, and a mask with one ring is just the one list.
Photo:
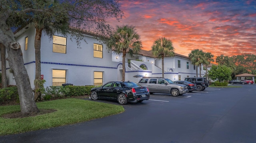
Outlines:
{"label": "shiny black sedan parked nearest, beside the lawn", "polygon": [[149,90],[135,82],[112,81],[100,87],[92,88],[90,96],[92,100],[117,100],[119,104],[124,105],[127,102],[148,100]]}

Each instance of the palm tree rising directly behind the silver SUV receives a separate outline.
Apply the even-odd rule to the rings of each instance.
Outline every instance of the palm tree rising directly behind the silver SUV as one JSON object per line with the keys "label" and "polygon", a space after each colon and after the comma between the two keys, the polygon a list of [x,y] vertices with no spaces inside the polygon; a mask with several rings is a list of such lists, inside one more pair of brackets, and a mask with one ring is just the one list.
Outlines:
{"label": "palm tree rising directly behind the silver SUV", "polygon": [[173,57],[174,56],[174,47],[172,46],[172,41],[161,37],[154,41],[152,45],[152,54],[159,59],[162,58],[162,77],[164,77],[164,57]]}

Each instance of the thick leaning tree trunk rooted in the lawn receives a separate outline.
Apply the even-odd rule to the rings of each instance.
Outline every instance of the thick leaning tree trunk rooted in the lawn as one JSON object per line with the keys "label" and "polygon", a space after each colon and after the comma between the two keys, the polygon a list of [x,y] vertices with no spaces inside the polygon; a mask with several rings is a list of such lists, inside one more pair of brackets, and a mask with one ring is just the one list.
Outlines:
{"label": "thick leaning tree trunk rooted in the lawn", "polygon": [[14,33],[8,25],[6,25],[6,19],[4,19],[4,15],[0,18],[0,43],[3,43],[6,47],[8,53],[6,60],[9,61],[9,66],[14,71],[14,79],[16,81],[20,100],[20,111],[22,114],[37,113],[39,110],[34,101],[34,94],[32,92],[28,73],[24,66],[20,44],[16,42]]}

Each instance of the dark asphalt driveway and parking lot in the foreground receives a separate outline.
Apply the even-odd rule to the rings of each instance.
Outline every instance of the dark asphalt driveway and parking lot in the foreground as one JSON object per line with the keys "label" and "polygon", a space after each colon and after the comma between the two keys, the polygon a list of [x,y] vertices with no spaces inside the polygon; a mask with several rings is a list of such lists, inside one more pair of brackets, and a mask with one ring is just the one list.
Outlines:
{"label": "dark asphalt driveway and parking lot in the foreground", "polygon": [[[125,112],[74,125],[1,136],[1,143],[255,143],[256,85],[206,88],[124,105]],[[114,101],[99,100],[118,104]]]}

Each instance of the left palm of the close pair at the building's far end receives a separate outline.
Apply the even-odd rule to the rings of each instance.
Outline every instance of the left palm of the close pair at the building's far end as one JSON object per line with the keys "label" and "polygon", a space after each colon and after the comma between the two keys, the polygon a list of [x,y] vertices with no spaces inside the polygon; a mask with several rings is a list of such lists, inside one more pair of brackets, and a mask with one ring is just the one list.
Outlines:
{"label": "left palm of the close pair at the building's far end", "polygon": [[195,49],[188,54],[188,57],[191,58],[192,64],[196,65],[196,77],[198,77],[197,67],[200,66],[200,77],[201,77],[201,64],[202,64],[202,50]]}

